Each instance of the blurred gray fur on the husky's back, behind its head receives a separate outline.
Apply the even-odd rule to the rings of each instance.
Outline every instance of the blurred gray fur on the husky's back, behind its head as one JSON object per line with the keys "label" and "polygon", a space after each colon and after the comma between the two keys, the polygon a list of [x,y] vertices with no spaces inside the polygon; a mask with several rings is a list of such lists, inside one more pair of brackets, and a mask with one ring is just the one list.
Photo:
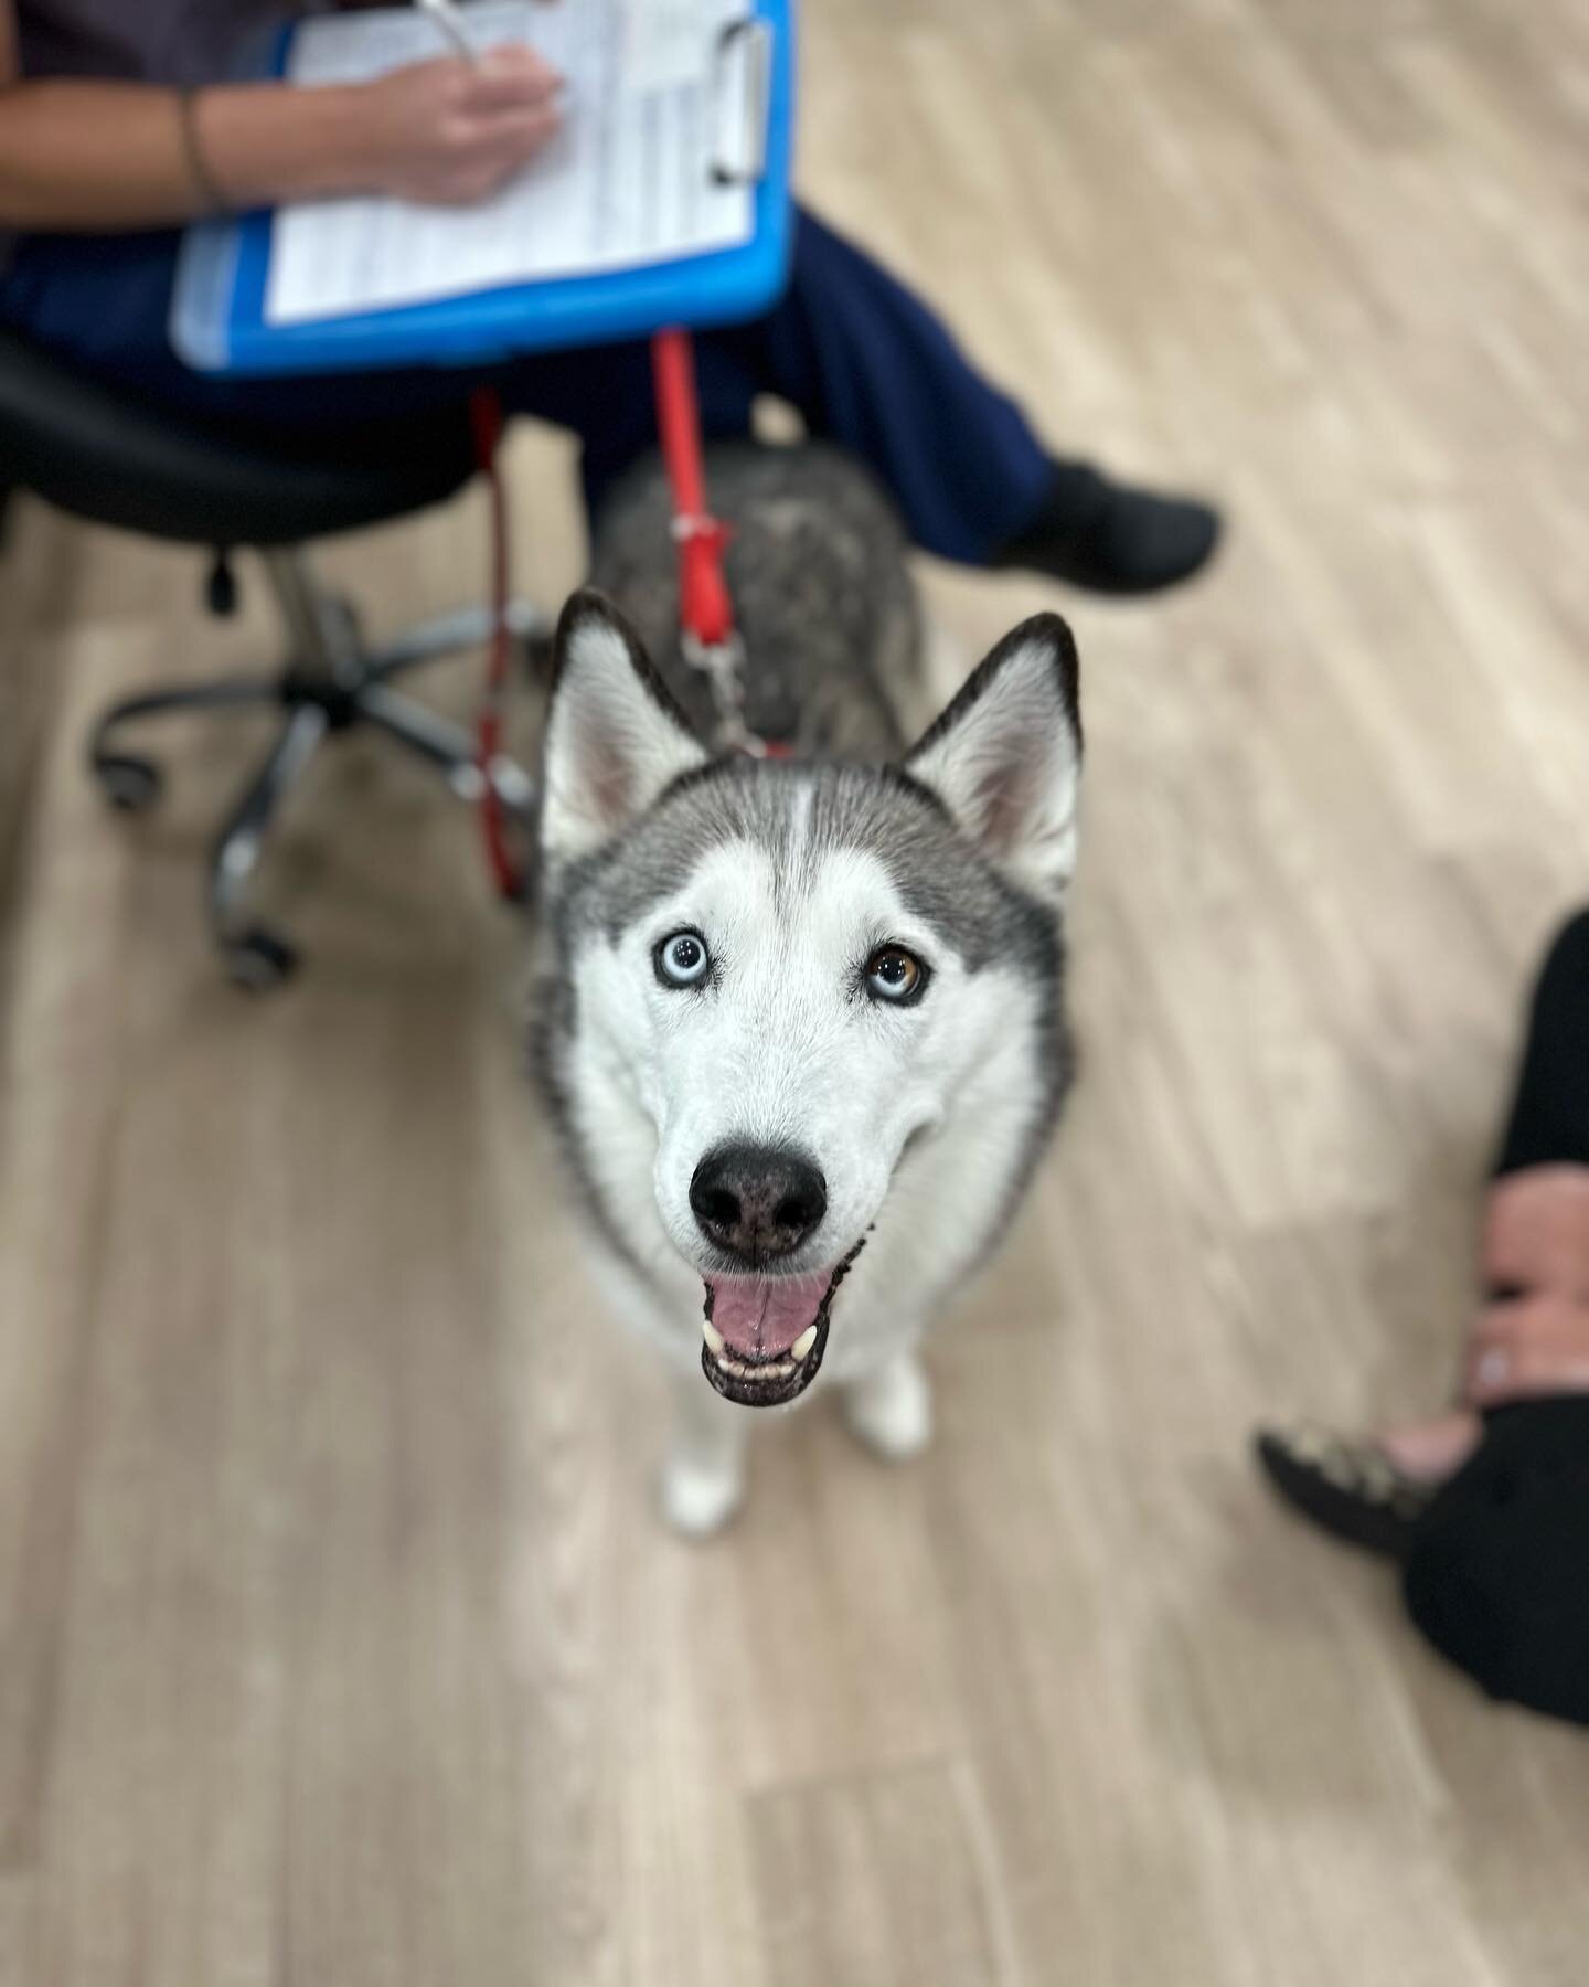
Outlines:
{"label": "blurred gray fur on the husky's back, behind its head", "polygon": [[[896,759],[896,699],[918,680],[922,622],[906,538],[870,473],[820,443],[707,449],[709,501],[745,642],[745,723],[800,759]],[[697,733],[717,713],[679,650],[673,505],[648,457],[602,505],[590,582],[618,602]]]}

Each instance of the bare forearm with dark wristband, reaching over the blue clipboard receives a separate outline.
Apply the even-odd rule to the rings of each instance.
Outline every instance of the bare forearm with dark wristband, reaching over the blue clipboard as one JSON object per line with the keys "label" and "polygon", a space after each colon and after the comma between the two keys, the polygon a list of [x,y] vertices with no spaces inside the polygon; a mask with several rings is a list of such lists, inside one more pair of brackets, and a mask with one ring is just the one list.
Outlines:
{"label": "bare forearm with dark wristband, reaching over the blue clipboard", "polygon": [[205,89],[193,131],[199,171],[173,89],[14,83],[0,91],[0,227],[113,232],[189,221],[213,195],[262,207],[369,183],[358,89]]}

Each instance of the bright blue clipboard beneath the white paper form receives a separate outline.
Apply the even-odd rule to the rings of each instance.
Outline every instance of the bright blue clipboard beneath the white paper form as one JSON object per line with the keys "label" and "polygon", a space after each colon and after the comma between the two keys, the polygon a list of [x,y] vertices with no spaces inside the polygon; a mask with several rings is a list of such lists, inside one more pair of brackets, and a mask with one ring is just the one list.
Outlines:
{"label": "bright blue clipboard beneath the white paper form", "polygon": [[[288,28],[274,48],[276,76],[286,70],[290,44]],[[721,52],[733,54],[735,76],[755,89],[751,157],[711,167],[753,183],[749,242],[642,268],[473,290],[312,324],[266,324],[274,223],[266,209],[187,230],[171,304],[175,350],[197,372],[230,376],[493,366],[520,352],[642,338],[663,324],[703,330],[761,316],[789,274],[794,0],[747,0],[743,18],[723,32]]]}

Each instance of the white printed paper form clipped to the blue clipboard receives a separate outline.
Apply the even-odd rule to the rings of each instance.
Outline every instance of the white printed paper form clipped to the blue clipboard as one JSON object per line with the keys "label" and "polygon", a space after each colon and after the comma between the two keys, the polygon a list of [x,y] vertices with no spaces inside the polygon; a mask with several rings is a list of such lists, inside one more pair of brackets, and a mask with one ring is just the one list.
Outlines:
{"label": "white printed paper form clipped to the blue clipboard", "polygon": [[[280,209],[268,324],[669,262],[751,238],[751,189],[711,173],[723,129],[717,42],[745,0],[477,0],[461,12],[477,48],[528,42],[566,77],[562,131],[479,207],[340,199]],[[417,8],[338,14],[298,30],[288,76],[367,81],[445,52]]]}

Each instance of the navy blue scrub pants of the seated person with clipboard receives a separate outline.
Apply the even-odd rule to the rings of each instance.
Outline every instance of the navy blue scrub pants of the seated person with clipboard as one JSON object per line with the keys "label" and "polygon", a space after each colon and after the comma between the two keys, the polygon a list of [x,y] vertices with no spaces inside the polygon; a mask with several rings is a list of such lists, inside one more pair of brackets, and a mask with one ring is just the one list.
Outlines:
{"label": "navy blue scrub pants of the seated person with clipboard", "polygon": [[[171,232],[32,236],[0,278],[0,322],[155,405],[199,419],[322,431],[463,403],[479,376],[439,368],[302,380],[207,380],[171,352]],[[860,455],[914,540],[985,564],[1029,525],[1049,455],[1019,407],[963,358],[938,318],[832,229],[800,213],[789,288],[751,324],[697,338],[701,417],[743,435],[757,393]],[[644,340],[536,354],[491,372],[514,413],[584,443],[594,507],[655,443]]]}

